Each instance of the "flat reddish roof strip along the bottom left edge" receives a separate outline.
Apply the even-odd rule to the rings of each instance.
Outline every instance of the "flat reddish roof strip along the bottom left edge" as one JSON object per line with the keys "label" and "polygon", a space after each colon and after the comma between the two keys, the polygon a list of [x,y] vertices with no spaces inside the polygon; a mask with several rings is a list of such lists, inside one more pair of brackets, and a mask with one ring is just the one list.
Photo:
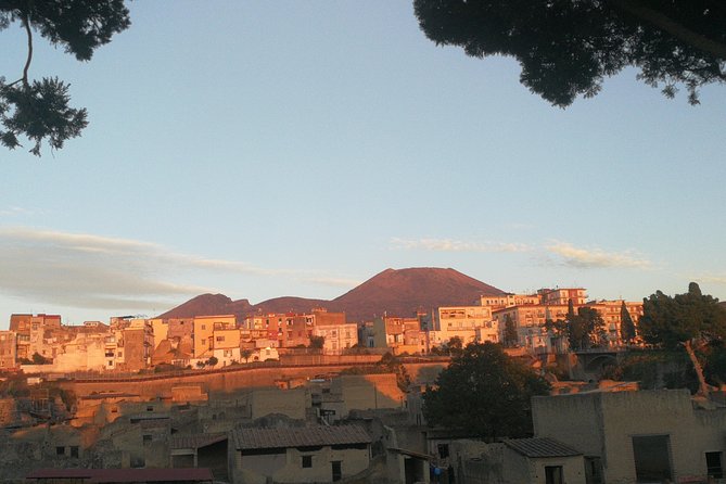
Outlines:
{"label": "flat reddish roof strip along the bottom left edge", "polygon": [[206,468],[189,469],[37,469],[25,479],[87,479],[89,483],[213,481]]}

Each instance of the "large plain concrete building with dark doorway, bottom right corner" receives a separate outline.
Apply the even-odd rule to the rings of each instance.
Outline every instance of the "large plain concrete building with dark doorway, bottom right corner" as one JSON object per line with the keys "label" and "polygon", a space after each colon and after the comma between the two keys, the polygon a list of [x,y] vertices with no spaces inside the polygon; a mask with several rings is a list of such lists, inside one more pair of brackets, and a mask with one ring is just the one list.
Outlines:
{"label": "large plain concrete building with dark doorway, bottom right corner", "polygon": [[[535,435],[585,455],[587,482],[704,483],[724,477],[726,408],[687,390],[533,398]],[[712,482],[712,481],[708,481]]]}

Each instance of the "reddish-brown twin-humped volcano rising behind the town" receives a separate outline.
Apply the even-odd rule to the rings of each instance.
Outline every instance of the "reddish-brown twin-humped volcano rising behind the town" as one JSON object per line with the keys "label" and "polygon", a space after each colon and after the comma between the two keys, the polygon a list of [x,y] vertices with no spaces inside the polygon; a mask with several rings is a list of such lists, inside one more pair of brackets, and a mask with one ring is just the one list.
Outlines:
{"label": "reddish-brown twin-humped volcano rising behind the town", "polygon": [[244,317],[255,313],[305,313],[323,307],[345,313],[348,321],[364,321],[383,314],[408,317],[418,309],[471,305],[482,294],[500,295],[505,292],[454,269],[385,269],[332,301],[286,296],[251,305],[247,300],[232,301],[222,294],[202,294],[158,317],[230,314]]}

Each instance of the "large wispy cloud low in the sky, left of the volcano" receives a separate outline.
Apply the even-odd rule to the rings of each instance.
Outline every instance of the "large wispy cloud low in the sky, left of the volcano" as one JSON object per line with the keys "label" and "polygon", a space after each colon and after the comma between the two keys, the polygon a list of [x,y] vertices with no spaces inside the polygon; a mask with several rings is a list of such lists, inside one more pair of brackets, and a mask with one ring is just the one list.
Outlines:
{"label": "large wispy cloud low in the sky, left of the volcano", "polygon": [[0,228],[0,291],[38,303],[100,309],[168,307],[186,297],[219,291],[179,282],[180,277],[193,280],[201,273],[221,272],[284,276],[334,286],[351,282],[314,271],[267,269],[183,254],[138,240]]}

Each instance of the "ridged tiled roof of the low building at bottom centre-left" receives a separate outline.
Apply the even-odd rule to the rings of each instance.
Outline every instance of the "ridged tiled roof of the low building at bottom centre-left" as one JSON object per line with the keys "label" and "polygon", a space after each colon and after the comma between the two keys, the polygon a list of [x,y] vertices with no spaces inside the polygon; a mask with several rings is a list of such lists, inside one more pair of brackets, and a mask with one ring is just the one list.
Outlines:
{"label": "ridged tiled roof of the low building at bottom centre-left", "polygon": [[232,431],[239,450],[307,447],[320,445],[370,444],[366,429],[360,425],[298,426],[289,429],[245,429]]}

